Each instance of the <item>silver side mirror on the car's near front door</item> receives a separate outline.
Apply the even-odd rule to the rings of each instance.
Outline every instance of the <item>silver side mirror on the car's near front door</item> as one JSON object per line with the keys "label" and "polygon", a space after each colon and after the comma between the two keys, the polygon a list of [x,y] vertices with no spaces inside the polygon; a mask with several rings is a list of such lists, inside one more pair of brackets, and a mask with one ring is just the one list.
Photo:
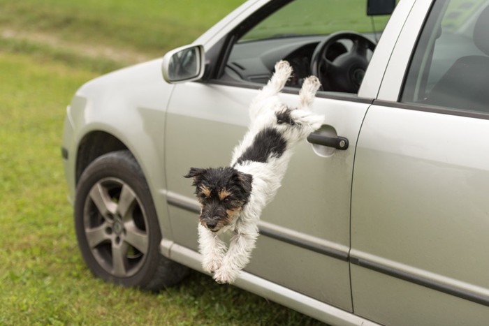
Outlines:
{"label": "silver side mirror on the car's near front door", "polygon": [[191,82],[204,75],[204,47],[185,45],[171,50],[163,57],[161,71],[169,83]]}

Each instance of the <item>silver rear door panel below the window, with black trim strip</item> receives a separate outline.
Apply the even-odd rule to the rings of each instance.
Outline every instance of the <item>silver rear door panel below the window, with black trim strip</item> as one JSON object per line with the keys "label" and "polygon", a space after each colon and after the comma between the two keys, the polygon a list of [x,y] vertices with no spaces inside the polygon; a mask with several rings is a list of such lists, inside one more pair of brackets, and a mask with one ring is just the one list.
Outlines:
{"label": "silver rear door panel below the window, with black trim strip", "polygon": [[[429,324],[426,304],[441,306],[440,299],[452,308],[446,311],[451,323],[471,320],[466,318],[474,309],[479,311],[476,318],[489,318],[487,307],[478,308],[489,299],[489,262],[481,260],[489,246],[489,151],[484,150],[488,138],[486,119],[387,104],[369,109],[358,142],[352,191],[351,281],[358,313],[378,311],[374,320],[395,325],[416,323],[414,316],[419,316],[418,323]],[[372,274],[372,269],[377,272]],[[366,284],[382,280],[393,286],[367,290],[372,286]],[[432,290],[419,289],[420,284]],[[438,299],[385,305],[406,288],[413,288],[407,291],[412,298],[425,292]],[[472,304],[461,305],[460,299],[438,292],[465,297]],[[372,309],[373,305],[378,306]],[[383,320],[388,309],[413,318]]]}

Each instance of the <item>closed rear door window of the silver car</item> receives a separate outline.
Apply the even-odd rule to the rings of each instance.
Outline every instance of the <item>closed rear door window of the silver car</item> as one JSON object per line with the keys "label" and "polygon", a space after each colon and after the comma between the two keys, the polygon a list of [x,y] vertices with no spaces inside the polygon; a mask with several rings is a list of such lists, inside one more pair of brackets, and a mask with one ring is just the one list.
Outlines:
{"label": "closed rear door window of the silver car", "polygon": [[400,100],[489,112],[489,1],[438,0],[416,45]]}

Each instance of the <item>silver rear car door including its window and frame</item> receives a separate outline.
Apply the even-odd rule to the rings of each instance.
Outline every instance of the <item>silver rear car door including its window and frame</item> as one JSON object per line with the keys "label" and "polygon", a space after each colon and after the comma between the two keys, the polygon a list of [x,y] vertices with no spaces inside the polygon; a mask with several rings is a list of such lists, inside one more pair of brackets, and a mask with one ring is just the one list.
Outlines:
{"label": "silver rear car door including its window and frame", "polygon": [[462,2],[416,1],[358,138],[353,306],[385,325],[489,318],[489,2]]}

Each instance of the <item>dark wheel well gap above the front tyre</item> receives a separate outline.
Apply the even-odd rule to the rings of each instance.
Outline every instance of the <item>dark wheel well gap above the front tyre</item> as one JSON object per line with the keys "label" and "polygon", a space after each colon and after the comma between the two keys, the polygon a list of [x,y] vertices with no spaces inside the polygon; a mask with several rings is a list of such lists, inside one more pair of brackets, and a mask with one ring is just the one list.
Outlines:
{"label": "dark wheel well gap above the front tyre", "polygon": [[122,149],[127,149],[126,145],[113,135],[110,135],[110,133],[94,131],[85,135],[80,142],[80,145],[78,145],[75,175],[76,183],[78,184],[78,180],[83,171],[96,158],[110,153],[111,151],[120,151]]}

